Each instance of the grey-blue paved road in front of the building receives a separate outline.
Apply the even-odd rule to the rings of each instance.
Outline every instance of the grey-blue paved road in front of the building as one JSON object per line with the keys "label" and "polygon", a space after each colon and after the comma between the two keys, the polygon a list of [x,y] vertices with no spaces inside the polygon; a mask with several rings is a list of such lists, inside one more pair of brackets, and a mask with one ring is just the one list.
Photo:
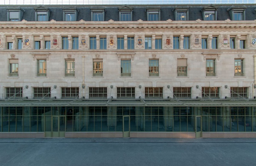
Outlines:
{"label": "grey-blue paved road in front of the building", "polygon": [[1,138],[1,166],[255,166],[256,138]]}

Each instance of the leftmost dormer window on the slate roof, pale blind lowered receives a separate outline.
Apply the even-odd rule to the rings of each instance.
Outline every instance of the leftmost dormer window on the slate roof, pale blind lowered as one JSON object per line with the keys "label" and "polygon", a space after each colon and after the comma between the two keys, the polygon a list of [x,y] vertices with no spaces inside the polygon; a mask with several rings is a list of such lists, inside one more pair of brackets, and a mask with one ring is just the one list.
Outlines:
{"label": "leftmost dormer window on the slate roof, pale blind lowered", "polygon": [[23,10],[20,7],[7,8],[7,21],[21,21]]}

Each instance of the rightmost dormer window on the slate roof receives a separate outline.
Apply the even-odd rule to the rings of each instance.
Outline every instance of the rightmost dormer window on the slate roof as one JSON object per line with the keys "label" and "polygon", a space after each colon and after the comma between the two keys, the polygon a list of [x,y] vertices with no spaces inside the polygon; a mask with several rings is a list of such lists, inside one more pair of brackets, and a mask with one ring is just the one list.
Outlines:
{"label": "rightmost dormer window on the slate roof", "polygon": [[231,17],[231,20],[239,21],[239,20],[245,20],[245,9],[246,7],[234,7],[228,9],[229,15]]}

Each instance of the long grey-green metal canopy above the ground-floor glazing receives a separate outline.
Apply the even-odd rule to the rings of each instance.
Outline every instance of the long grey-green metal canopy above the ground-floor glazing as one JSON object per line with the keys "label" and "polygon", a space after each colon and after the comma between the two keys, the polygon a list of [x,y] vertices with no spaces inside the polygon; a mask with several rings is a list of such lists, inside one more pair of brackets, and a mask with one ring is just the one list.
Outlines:
{"label": "long grey-green metal canopy above the ground-floor glazing", "polygon": [[0,107],[256,107],[256,100],[226,100],[214,101],[199,99],[169,100],[169,99],[81,99],[81,100],[10,100],[0,101]]}

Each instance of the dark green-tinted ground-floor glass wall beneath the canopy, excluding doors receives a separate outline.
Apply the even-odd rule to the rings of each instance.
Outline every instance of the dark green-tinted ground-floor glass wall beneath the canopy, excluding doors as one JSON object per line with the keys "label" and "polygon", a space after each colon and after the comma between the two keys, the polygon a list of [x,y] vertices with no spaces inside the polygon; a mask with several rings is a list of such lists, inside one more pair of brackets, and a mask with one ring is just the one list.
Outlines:
{"label": "dark green-tinted ground-floor glass wall beneath the canopy, excluding doors", "polygon": [[0,107],[0,132],[52,131],[60,118],[65,131],[123,131],[123,116],[130,116],[130,131],[193,132],[201,116],[203,132],[256,131],[256,107]]}

